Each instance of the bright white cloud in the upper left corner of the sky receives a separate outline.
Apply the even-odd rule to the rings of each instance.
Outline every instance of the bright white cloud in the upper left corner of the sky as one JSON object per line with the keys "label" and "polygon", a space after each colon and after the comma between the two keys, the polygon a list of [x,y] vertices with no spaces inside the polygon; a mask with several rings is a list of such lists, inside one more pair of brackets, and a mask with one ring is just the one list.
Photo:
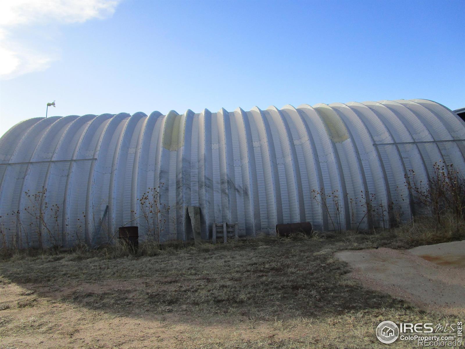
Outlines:
{"label": "bright white cloud in the upper left corner of the sky", "polygon": [[[45,70],[57,60],[57,52],[28,47],[16,31],[49,24],[83,23],[105,19],[115,12],[120,0],[3,0],[0,1],[0,78]],[[35,42],[35,44],[37,44]],[[34,45],[37,46],[37,45]]]}

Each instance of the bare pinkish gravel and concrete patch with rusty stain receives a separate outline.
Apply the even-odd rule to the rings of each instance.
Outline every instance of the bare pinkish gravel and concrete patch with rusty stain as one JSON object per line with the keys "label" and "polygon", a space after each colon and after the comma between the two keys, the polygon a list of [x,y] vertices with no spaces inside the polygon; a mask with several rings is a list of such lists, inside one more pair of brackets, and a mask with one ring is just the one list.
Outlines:
{"label": "bare pinkish gravel and concrete patch with rusty stain", "polygon": [[465,315],[465,241],[340,251],[350,277],[365,287],[405,299],[421,309]]}

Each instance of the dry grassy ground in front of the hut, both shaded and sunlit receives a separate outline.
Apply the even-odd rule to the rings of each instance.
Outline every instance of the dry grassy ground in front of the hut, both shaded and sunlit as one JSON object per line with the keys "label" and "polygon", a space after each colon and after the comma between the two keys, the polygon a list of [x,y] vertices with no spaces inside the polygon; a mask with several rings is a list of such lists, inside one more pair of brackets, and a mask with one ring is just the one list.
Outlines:
{"label": "dry grassy ground in front of the hut, both shaded and sunlit", "polygon": [[121,245],[16,251],[0,263],[0,347],[383,348],[374,335],[383,320],[458,317],[364,289],[333,253],[465,239],[456,222],[431,224],[135,254]]}

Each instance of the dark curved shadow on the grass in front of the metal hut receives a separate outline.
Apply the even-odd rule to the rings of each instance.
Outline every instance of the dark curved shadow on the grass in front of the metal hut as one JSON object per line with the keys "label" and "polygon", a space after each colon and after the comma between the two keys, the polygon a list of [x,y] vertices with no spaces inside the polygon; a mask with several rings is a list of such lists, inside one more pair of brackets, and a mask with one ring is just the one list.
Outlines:
{"label": "dark curved shadow on the grass in front of the metal hut", "polygon": [[343,236],[256,239],[151,257],[108,259],[93,252],[13,257],[0,264],[0,275],[40,297],[133,317],[265,320],[408,308],[344,277],[346,264],[333,252],[353,244]]}

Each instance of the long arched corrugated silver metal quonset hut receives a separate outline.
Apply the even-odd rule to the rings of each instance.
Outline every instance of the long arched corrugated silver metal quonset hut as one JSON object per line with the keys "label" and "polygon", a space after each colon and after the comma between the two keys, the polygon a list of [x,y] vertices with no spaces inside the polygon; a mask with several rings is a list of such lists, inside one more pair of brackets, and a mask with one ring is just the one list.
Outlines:
{"label": "long arched corrugated silver metal quonset hut", "polygon": [[202,239],[214,222],[389,227],[418,214],[406,178],[464,174],[464,155],[464,121],[427,100],[34,118],[0,139],[0,244],[96,245],[124,225],[188,240],[189,206]]}

